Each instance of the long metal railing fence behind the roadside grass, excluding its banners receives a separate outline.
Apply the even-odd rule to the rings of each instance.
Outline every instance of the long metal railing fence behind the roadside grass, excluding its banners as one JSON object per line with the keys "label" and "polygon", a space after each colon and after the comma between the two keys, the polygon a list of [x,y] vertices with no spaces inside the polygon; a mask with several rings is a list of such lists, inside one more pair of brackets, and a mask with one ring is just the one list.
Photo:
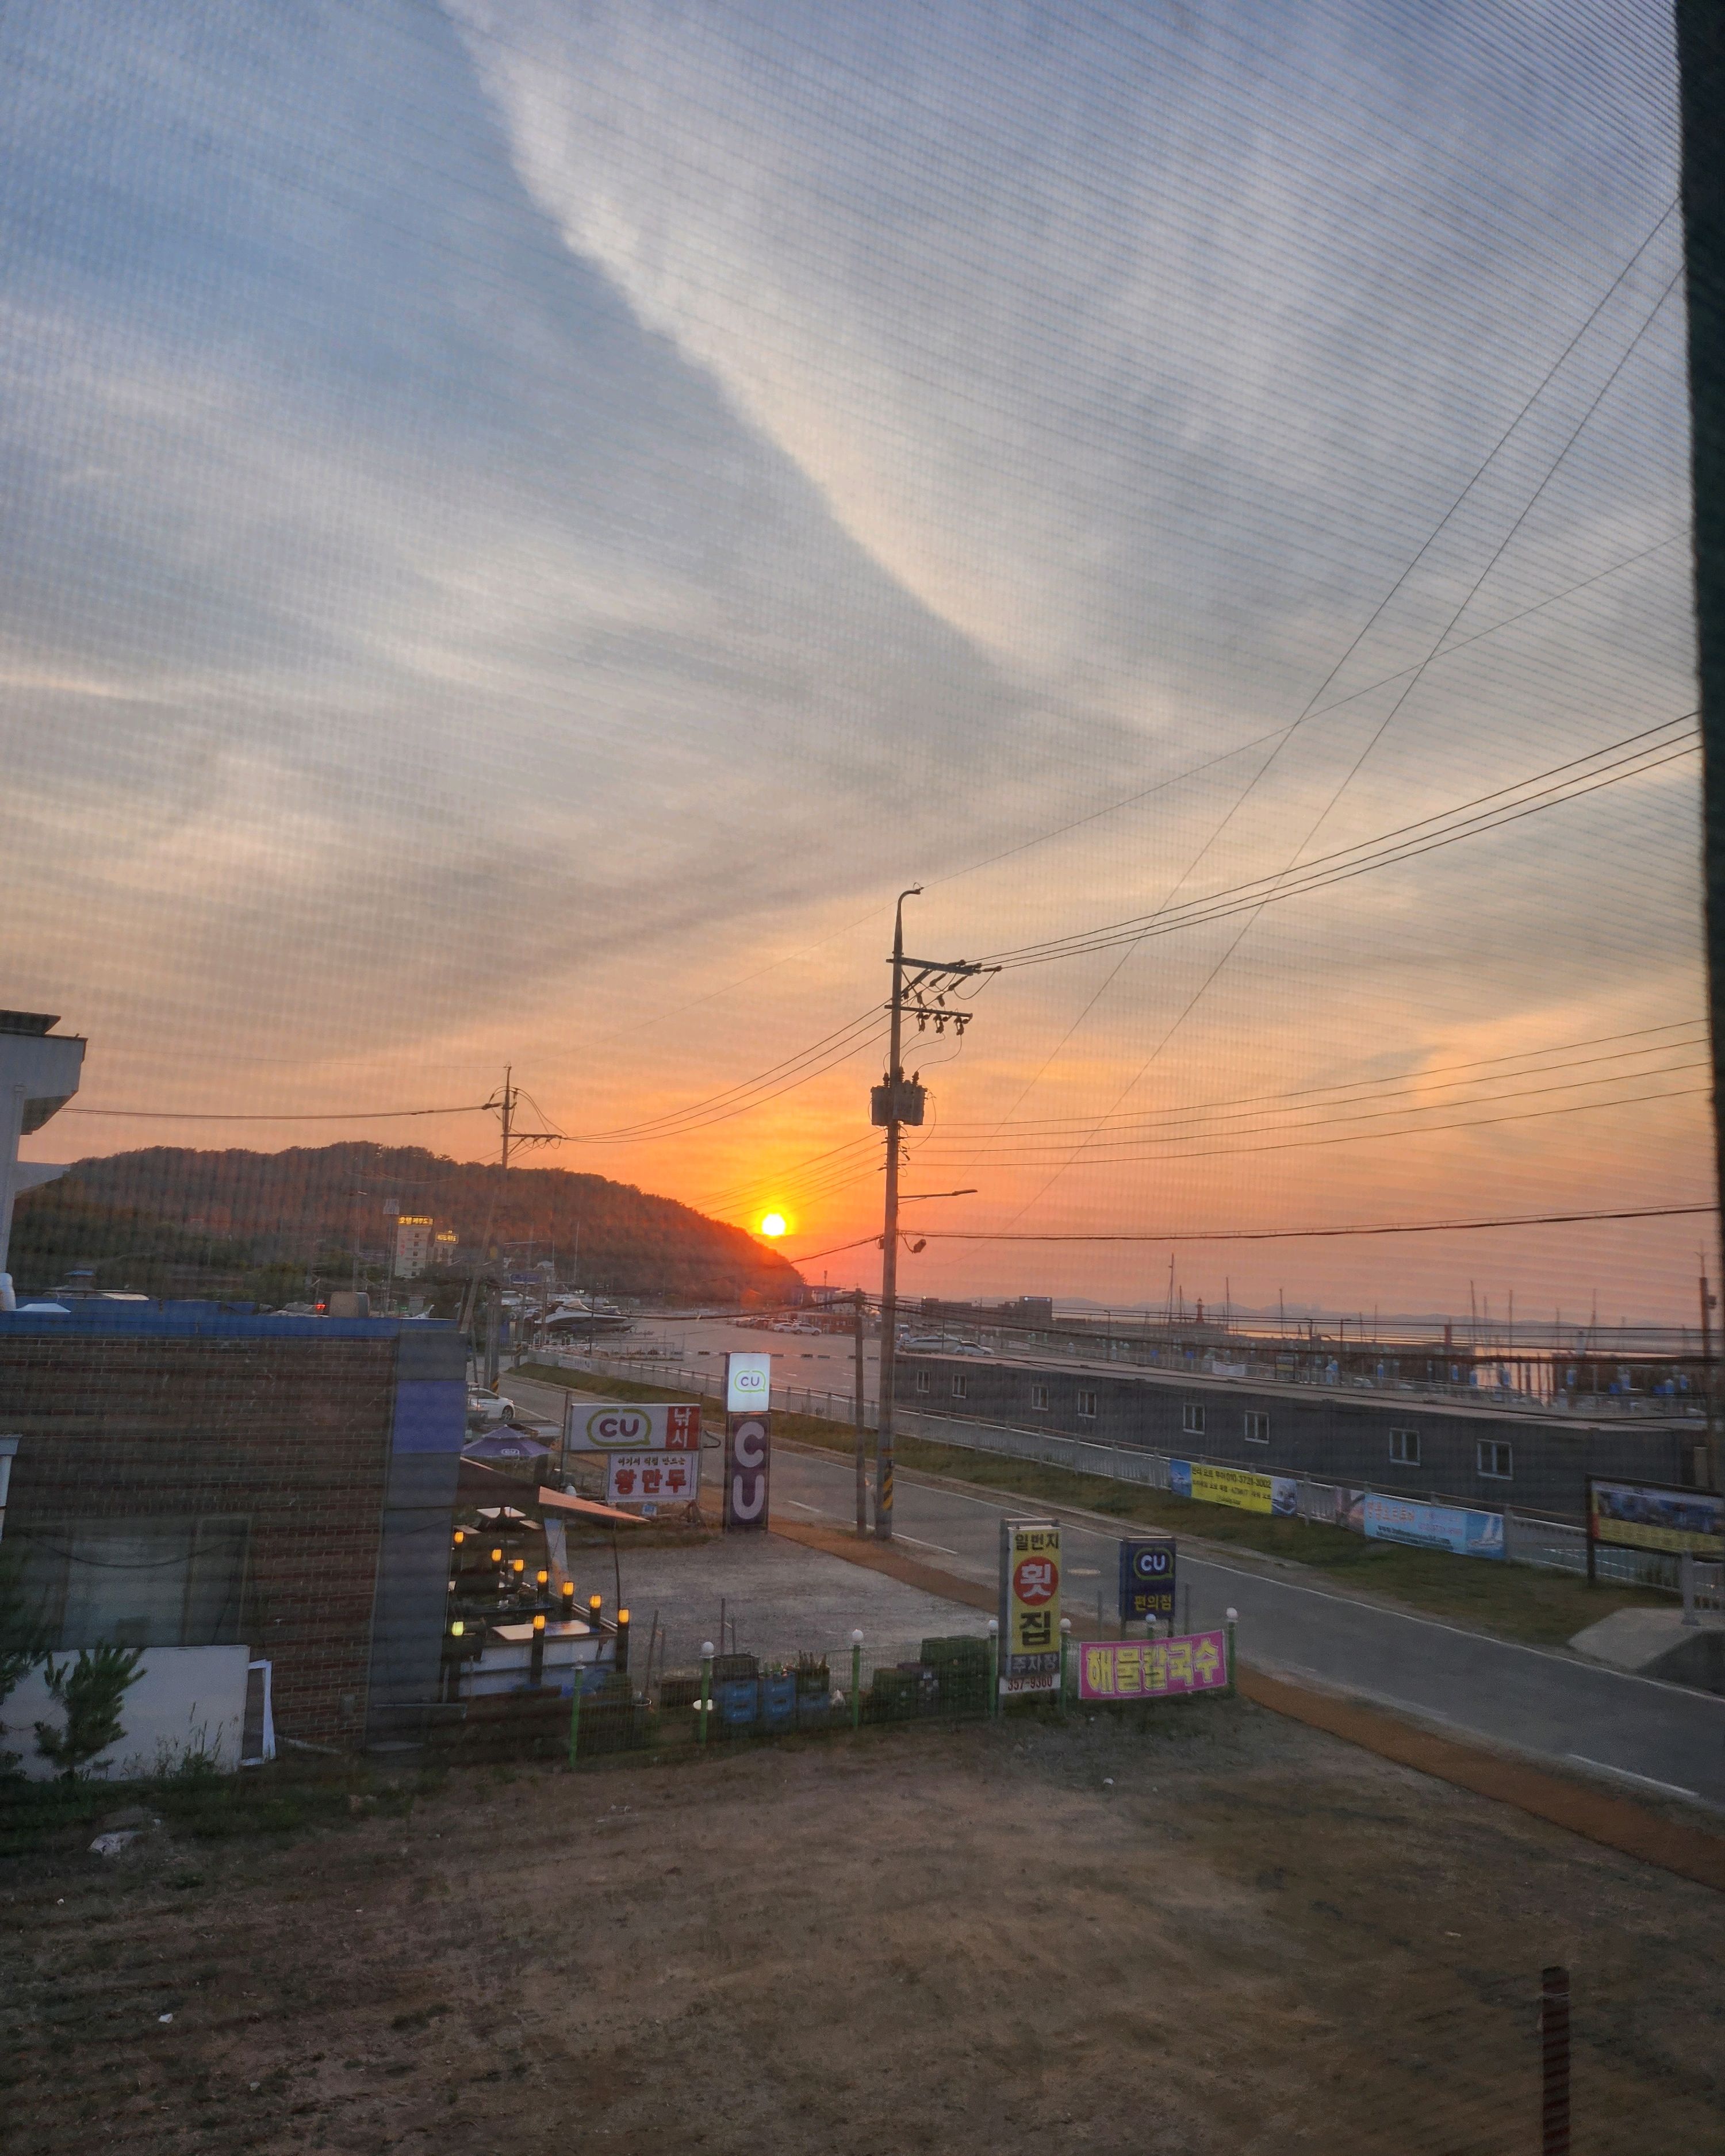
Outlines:
{"label": "long metal railing fence behind the roadside grass, excluding its banners", "polygon": [[[718,1399],[724,1391],[718,1371],[688,1369],[660,1356],[576,1356],[546,1354],[541,1360],[569,1371],[593,1371],[606,1378],[634,1378],[658,1384],[666,1391],[699,1393]],[[783,1414],[811,1414],[822,1421],[856,1427],[856,1399],[850,1393],[819,1391],[811,1386],[774,1386],[772,1406]],[[878,1423],[875,1401],[865,1401],[865,1429]],[[972,1423],[947,1414],[925,1414],[914,1408],[897,1408],[895,1425],[899,1436],[923,1438],[929,1445],[953,1445],[962,1451],[992,1453],[1005,1460],[1031,1460],[1037,1466],[1070,1468],[1074,1475],[1098,1475],[1106,1481],[1136,1483],[1141,1490],[1169,1488],[1169,1455],[1143,1451],[1132,1445],[1098,1445],[1091,1438],[1063,1438],[1048,1429],[1018,1429],[1011,1423]],[[1182,1460],[1203,1462],[1203,1453],[1179,1453]],[[1233,1466],[1236,1462],[1216,1462]],[[1335,1526],[1339,1483],[1313,1481],[1307,1475],[1287,1477],[1298,1483],[1298,1516],[1320,1526]],[[1350,1483],[1348,1488],[1371,1492],[1371,1483]],[[1389,1492],[1399,1496],[1402,1492]],[[1458,1503],[1440,1494],[1432,1503]],[[1479,1511],[1479,1505],[1462,1505]],[[1503,1554],[1516,1565],[1535,1565],[1546,1572],[1587,1572],[1587,1531],[1572,1520],[1546,1520],[1537,1514],[1503,1511]],[[1593,1574],[1619,1587],[1654,1587],[1667,1593],[1682,1593],[1682,1561],[1660,1550],[1622,1550],[1600,1544],[1593,1552]],[[1693,1602],[1703,1611],[1725,1608],[1725,1565],[1690,1567]]]}

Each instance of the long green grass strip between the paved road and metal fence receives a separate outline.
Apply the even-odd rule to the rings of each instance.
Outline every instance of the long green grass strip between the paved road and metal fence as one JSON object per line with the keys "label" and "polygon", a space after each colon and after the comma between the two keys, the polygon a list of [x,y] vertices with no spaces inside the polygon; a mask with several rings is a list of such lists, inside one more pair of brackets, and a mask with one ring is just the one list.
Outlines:
{"label": "long green grass strip between the paved road and metal fence", "polygon": [[[854,1457],[856,1451],[852,1429],[815,1414],[774,1412],[772,1427],[776,1436],[796,1438],[800,1445],[815,1445],[828,1453]],[[873,1434],[869,1449],[873,1451]],[[1082,1505],[1087,1511],[1119,1520],[1121,1526],[1201,1535],[1205,1542],[1229,1548],[1283,1557],[1337,1580],[1369,1587],[1425,1617],[1449,1617],[1479,1632],[1542,1647],[1563,1645],[1583,1626],[1598,1623],[1613,1611],[1671,1608],[1671,1595],[1660,1595],[1652,1587],[1589,1587],[1587,1580],[1570,1572],[1451,1557],[1447,1550],[1406,1550],[1393,1542],[1367,1542],[1365,1535],[1350,1535],[1341,1526],[1276,1520],[1255,1511],[1231,1511],[1227,1505],[1199,1505],[1192,1498],[1171,1496],[1167,1490],[1143,1490],[1106,1475],[1078,1475],[1072,1468],[1044,1466],[1035,1460],[979,1453],[970,1451],[968,1445],[897,1438],[893,1457],[912,1473],[921,1468],[927,1475],[951,1475],[979,1490],[1003,1490],[1054,1505]]]}

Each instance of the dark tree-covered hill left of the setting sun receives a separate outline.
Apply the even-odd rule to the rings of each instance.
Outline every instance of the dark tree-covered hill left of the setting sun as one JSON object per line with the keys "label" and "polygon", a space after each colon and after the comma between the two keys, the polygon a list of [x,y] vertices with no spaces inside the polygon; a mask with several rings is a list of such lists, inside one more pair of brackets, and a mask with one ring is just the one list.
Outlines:
{"label": "dark tree-covered hill left of the setting sun", "polygon": [[679,1302],[781,1300],[800,1285],[753,1235],[634,1184],[569,1169],[511,1169],[505,1184],[485,1162],[354,1143],[80,1160],[19,1197],[11,1266],[32,1289],[93,1266],[101,1287],[155,1294],[235,1291],[242,1276],[257,1289],[276,1274],[287,1298],[319,1270],[345,1276],[356,1250],[382,1261],[397,1212],[451,1229],[464,1272],[554,1257],[561,1281]]}

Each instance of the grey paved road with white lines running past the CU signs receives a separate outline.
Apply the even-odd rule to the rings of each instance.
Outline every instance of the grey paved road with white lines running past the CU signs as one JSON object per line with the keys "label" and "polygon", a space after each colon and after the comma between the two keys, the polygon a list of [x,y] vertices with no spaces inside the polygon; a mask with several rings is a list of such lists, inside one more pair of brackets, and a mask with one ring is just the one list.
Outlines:
{"label": "grey paved road with white lines running past the CU signs", "polygon": [[[781,1447],[772,1503],[789,1518],[845,1524],[854,1518],[854,1468]],[[992,1585],[996,1522],[1033,1509],[899,1477],[895,1531],[908,1554]],[[1259,1669],[1412,1710],[1548,1761],[1604,1768],[1628,1785],[1656,1783],[1725,1805],[1725,1699],[1408,1617],[1307,1585],[1292,1570],[1182,1554],[1179,1576],[1195,1628],[1220,1623],[1229,1606],[1240,1611],[1240,1651]],[[1093,1604],[1100,1589],[1110,1608],[1115,1578],[1117,1537],[1067,1524],[1067,1606]]]}

